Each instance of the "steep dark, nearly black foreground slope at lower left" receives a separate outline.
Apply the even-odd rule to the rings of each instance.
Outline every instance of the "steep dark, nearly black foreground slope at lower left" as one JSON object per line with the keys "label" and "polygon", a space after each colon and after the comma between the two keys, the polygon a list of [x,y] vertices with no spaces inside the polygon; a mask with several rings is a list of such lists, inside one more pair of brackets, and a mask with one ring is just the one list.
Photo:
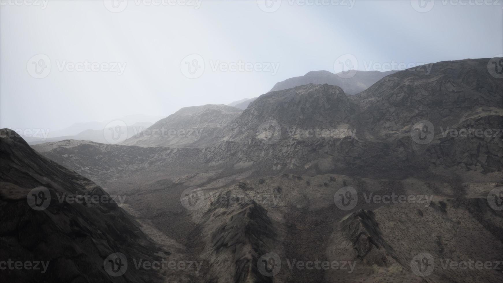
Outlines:
{"label": "steep dark, nearly black foreground slope at lower left", "polygon": [[126,196],[41,156],[12,130],[0,130],[0,157],[0,252],[40,268],[7,268],[2,281],[161,281],[161,272],[134,268],[134,260],[178,256],[119,207]]}

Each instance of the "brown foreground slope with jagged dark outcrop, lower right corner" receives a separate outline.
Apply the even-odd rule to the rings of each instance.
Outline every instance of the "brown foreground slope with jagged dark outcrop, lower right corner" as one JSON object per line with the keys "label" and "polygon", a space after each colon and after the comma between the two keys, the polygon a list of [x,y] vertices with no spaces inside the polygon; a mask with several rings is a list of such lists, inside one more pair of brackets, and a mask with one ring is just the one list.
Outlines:
{"label": "brown foreground slope with jagged dark outcrop, lower right corner", "polygon": [[[503,278],[499,268],[477,269],[474,262],[499,260],[502,228],[503,214],[481,198],[439,198],[429,207],[408,203],[356,211],[341,221],[327,249],[333,260],[358,260],[355,271],[330,270],[325,280],[497,282]],[[417,268],[423,261],[425,266]]]}

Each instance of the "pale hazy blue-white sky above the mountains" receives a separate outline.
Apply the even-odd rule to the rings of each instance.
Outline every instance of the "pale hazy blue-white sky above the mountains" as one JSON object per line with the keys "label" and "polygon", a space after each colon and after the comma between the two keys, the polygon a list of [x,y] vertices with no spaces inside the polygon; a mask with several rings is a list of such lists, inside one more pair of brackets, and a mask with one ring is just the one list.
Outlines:
{"label": "pale hazy blue-white sky above the mountains", "polygon": [[503,53],[501,1],[324,1],[0,0],[0,127],[228,104],[346,54],[366,70]]}

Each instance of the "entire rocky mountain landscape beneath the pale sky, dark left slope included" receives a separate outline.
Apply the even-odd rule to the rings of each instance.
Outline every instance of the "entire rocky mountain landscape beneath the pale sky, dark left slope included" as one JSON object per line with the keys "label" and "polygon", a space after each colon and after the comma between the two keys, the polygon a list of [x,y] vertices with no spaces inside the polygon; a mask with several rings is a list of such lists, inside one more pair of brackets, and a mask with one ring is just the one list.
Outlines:
{"label": "entire rocky mountain landscape beneath the pale sky, dark left slope included", "polygon": [[[46,271],[2,277],[496,282],[498,269],[441,267],[496,262],[503,249],[503,80],[488,61],[351,81],[309,72],[251,102],[185,107],[141,131],[112,127],[118,144],[30,147],[3,129],[0,206],[11,213],[0,249],[45,259]],[[93,196],[101,201],[82,201]],[[337,268],[292,263],[318,260]]]}

